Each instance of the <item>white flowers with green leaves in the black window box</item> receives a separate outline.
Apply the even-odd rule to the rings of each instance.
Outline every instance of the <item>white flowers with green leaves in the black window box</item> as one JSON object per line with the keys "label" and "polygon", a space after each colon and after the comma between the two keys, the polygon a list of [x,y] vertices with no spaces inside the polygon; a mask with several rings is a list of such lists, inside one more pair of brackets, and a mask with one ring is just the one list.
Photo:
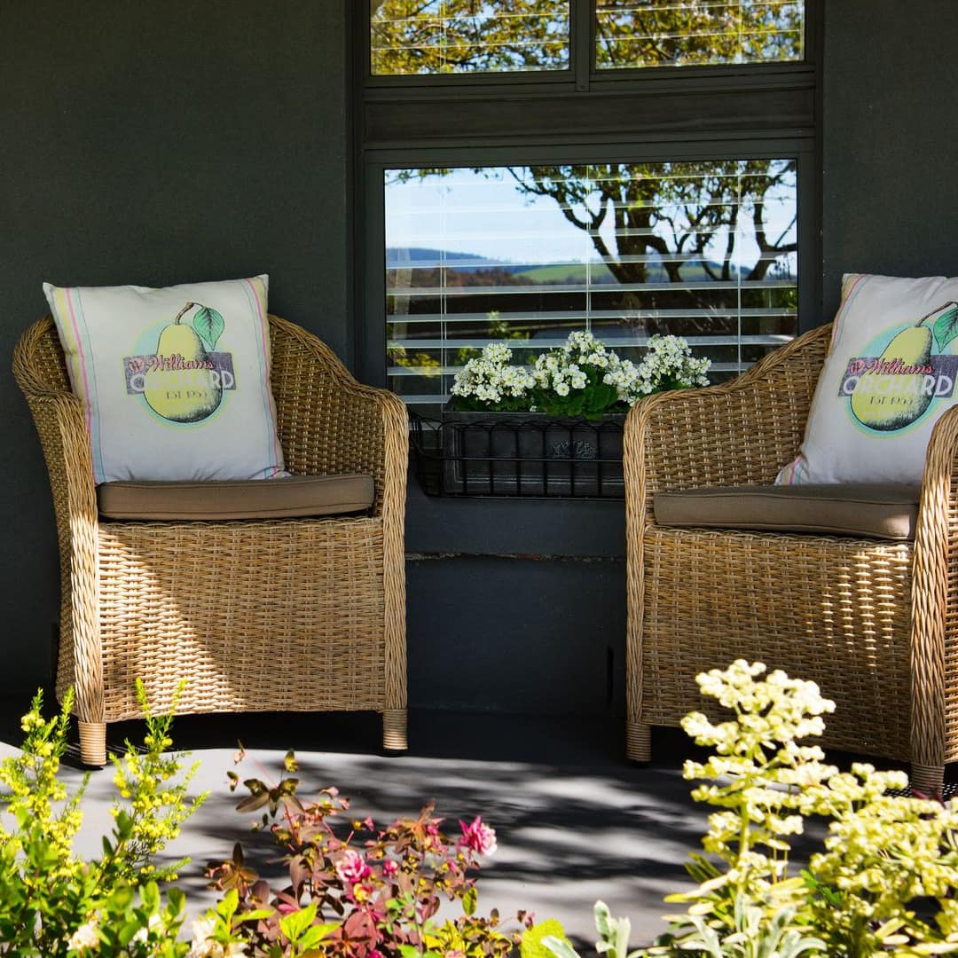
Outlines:
{"label": "white flowers with green leaves in the black window box", "polygon": [[505,343],[490,343],[456,374],[452,408],[486,412],[544,412],[598,419],[626,412],[650,393],[707,386],[711,361],[696,359],[680,336],[653,335],[640,363],[623,359],[587,330],[539,354],[531,366],[511,364]]}

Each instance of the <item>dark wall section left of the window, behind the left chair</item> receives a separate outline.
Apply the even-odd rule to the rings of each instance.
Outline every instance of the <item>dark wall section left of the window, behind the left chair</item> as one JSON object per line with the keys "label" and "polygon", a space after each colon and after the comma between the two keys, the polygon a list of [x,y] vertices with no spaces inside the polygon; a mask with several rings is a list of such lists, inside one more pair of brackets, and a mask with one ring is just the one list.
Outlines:
{"label": "dark wall section left of the window, behind the left chair", "polygon": [[46,472],[9,374],[40,284],[270,275],[348,360],[344,0],[0,2],[0,687],[49,674]]}

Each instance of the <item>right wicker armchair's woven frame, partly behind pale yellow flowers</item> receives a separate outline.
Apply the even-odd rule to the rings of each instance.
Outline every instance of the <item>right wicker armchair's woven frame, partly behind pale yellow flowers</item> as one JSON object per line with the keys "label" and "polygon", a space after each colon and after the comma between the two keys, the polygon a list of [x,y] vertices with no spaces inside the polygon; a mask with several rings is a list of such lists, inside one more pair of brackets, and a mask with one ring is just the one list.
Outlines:
{"label": "right wicker armchair's woven frame, partly behind pale yellow flowers", "polygon": [[837,704],[827,746],[909,760],[928,789],[958,759],[958,409],[928,446],[914,542],[655,522],[656,490],[774,482],[802,441],[830,334],[629,413],[631,759],[650,759],[650,726],[706,707],[696,673],[739,657],[818,682]]}

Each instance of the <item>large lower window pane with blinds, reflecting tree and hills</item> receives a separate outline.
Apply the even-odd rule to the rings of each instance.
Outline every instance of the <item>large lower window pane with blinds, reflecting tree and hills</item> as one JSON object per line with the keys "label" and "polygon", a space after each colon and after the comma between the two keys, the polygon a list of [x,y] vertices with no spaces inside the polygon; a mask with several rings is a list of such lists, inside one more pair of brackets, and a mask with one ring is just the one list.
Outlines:
{"label": "large lower window pane with blinds, reflecting tree and hills", "polygon": [[735,376],[796,331],[788,159],[386,173],[389,386],[435,411],[488,342],[685,336]]}

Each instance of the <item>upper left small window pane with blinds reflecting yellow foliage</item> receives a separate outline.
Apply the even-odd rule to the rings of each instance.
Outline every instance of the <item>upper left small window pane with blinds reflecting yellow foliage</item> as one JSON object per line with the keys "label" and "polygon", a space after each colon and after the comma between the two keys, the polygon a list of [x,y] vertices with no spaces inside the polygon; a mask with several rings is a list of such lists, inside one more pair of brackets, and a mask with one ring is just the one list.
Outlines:
{"label": "upper left small window pane with blinds reflecting yellow foliage", "polygon": [[564,70],[569,0],[373,0],[373,76]]}

